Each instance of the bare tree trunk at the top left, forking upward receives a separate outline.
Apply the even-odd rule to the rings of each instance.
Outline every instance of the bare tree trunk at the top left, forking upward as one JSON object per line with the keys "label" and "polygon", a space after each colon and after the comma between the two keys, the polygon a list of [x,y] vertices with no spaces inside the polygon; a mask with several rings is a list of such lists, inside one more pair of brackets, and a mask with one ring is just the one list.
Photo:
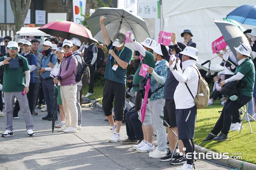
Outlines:
{"label": "bare tree trunk at the top left, forking upward", "polygon": [[15,18],[15,32],[24,27],[24,21],[29,12],[31,0],[10,0],[12,12]]}

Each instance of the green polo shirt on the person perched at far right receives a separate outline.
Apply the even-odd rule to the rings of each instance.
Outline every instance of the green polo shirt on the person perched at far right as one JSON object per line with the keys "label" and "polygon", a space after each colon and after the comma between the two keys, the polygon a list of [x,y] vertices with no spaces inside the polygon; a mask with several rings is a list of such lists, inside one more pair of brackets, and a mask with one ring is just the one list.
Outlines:
{"label": "green polo shirt on the person perched at far right", "polygon": [[[242,62],[242,64],[237,67],[234,75],[236,75],[237,72],[243,74],[244,77],[241,80],[247,82],[246,86],[241,89],[242,95],[252,97],[255,79],[255,69],[251,57],[249,57],[249,59],[245,59],[244,62]],[[242,86],[244,86],[243,82]],[[237,88],[237,91],[239,92],[239,88]]]}

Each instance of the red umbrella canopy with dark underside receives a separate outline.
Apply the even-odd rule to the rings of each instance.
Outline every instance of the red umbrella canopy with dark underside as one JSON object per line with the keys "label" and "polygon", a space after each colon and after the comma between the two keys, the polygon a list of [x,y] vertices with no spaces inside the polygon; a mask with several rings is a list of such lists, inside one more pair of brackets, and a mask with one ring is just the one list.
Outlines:
{"label": "red umbrella canopy with dark underside", "polygon": [[68,40],[75,37],[84,43],[98,43],[98,41],[91,35],[89,29],[71,21],[53,21],[38,29],[47,34]]}

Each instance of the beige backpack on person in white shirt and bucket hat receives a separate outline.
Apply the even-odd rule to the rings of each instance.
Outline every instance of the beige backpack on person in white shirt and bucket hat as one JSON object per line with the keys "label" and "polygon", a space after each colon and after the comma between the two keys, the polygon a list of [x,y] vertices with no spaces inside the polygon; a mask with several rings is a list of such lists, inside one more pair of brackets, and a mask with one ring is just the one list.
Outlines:
{"label": "beige backpack on person in white shirt and bucket hat", "polygon": [[[193,66],[191,66],[193,67]],[[190,89],[188,88],[188,84],[186,84],[188,91],[190,92],[191,96],[194,99],[196,108],[206,108],[208,106],[208,102],[209,102],[209,98],[210,98],[210,90],[208,87],[208,83],[206,82],[206,80],[204,80],[204,78],[201,76],[199,70],[196,67],[193,67],[196,69],[197,73],[198,73],[198,88],[197,88],[197,94],[196,94],[196,98],[194,98],[194,96],[192,95]]]}

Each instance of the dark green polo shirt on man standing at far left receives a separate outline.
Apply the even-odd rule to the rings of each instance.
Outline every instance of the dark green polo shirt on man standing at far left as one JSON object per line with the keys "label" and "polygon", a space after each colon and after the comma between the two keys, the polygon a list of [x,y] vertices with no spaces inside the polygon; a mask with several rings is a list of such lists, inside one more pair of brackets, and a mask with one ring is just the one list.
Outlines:
{"label": "dark green polo shirt on man standing at far left", "polygon": [[[7,53],[7,56],[1,57],[0,62],[4,61],[6,57],[10,57]],[[16,55],[16,58],[19,59],[19,54]],[[30,70],[27,59],[22,56],[23,68],[24,71]],[[6,67],[7,66],[7,67]],[[10,64],[4,64],[4,79],[3,79],[3,92],[18,92],[24,91],[25,87],[25,75],[22,70],[22,67],[19,64],[19,68],[16,70],[10,70]]]}

